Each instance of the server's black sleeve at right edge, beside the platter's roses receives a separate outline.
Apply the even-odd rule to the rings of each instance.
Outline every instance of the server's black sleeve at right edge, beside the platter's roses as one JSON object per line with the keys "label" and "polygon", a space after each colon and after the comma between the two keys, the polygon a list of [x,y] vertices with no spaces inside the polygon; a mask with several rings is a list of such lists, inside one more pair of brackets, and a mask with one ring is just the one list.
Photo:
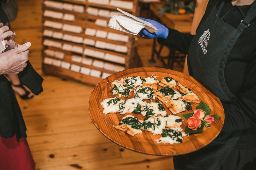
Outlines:
{"label": "server's black sleeve at right edge, beside the platter's roses", "polygon": [[248,129],[256,126],[256,52],[248,67],[241,92],[232,103],[222,103],[222,105],[225,111],[222,131]]}

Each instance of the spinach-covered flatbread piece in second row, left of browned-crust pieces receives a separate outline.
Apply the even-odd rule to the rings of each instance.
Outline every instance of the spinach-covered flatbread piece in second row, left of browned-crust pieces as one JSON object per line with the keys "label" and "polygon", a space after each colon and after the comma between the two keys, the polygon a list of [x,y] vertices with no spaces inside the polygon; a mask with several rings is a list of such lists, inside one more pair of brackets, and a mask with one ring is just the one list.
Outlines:
{"label": "spinach-covered flatbread piece in second row, left of browned-crust pieces", "polygon": [[155,99],[156,96],[154,95],[153,89],[150,87],[139,87],[134,90],[134,98],[135,99]]}

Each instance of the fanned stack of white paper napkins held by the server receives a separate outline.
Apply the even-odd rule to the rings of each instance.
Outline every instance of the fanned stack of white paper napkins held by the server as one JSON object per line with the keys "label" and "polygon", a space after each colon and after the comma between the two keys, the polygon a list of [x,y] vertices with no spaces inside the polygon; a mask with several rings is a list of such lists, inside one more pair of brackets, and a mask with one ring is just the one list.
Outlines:
{"label": "fanned stack of white paper napkins held by the server", "polygon": [[149,32],[156,32],[157,29],[151,23],[137,18],[128,12],[122,11],[117,8],[118,11],[125,15],[115,15],[109,21],[110,28],[127,32],[133,35],[137,35],[142,28],[146,28]]}

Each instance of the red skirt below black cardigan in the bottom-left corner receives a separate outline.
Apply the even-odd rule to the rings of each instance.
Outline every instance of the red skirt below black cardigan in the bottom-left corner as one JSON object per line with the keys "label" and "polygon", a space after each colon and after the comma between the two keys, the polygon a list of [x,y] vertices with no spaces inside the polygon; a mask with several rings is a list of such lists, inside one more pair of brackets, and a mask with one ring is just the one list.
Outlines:
{"label": "red skirt below black cardigan in the bottom-left corner", "polygon": [[8,139],[0,137],[0,169],[35,170],[35,161],[26,138],[17,142],[15,135]]}

